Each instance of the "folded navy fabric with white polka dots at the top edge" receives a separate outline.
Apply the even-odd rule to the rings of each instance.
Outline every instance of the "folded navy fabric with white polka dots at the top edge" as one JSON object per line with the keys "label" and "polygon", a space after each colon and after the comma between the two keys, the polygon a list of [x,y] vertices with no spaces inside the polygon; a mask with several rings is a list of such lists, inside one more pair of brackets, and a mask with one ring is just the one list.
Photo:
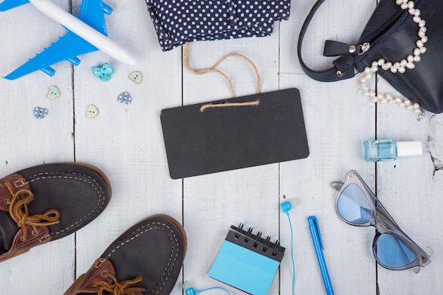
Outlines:
{"label": "folded navy fabric with white polka dots at the top edge", "polygon": [[289,18],[290,0],[146,0],[161,50],[186,42],[264,37]]}

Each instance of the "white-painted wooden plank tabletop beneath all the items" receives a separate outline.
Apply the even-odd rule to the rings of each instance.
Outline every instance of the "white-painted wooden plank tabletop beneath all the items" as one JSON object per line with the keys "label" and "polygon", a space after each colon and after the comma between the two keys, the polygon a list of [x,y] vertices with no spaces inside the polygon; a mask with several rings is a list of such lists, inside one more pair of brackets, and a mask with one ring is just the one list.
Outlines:
{"label": "white-painted wooden plank tabletop beneath all the items", "polygon": [[[71,7],[67,0],[55,2],[74,14],[79,11],[79,0]],[[240,222],[280,238],[287,251],[270,294],[291,294],[289,224],[279,207],[286,195],[294,204],[290,216],[295,294],[326,294],[306,221],[310,215],[316,215],[321,226],[335,294],[442,294],[443,117],[425,113],[417,122],[415,115],[396,106],[376,106],[362,96],[357,79],[309,79],[299,66],[296,47],[314,2],[292,1],[289,21],[275,23],[270,37],[195,42],[190,53],[197,69],[212,66],[229,52],[245,54],[260,70],[263,92],[299,88],[310,148],[303,160],[171,179],[160,111],[230,98],[230,93],[221,76],[196,76],[185,69],[183,48],[161,52],[142,0],[111,0],[114,12],[106,16],[109,36],[134,54],[137,66],[94,52],[81,56],[78,67],[56,64],[53,77],[37,72],[16,81],[0,79],[1,177],[40,163],[79,161],[102,168],[113,185],[108,208],[90,225],[2,262],[0,293],[63,294],[120,233],[146,216],[162,213],[183,222],[188,233],[182,276],[172,294],[182,294],[184,281],[196,289],[216,285],[206,272],[229,226]],[[356,42],[375,5],[375,0],[326,1],[306,35],[306,63],[326,69],[330,59],[321,56],[323,41]],[[64,28],[32,5],[0,13],[1,76],[63,34]],[[106,83],[91,73],[91,66],[104,62],[115,69]],[[254,93],[255,76],[246,62],[229,59],[220,69],[231,77],[237,96]],[[127,78],[135,70],[143,74],[139,85]],[[383,92],[395,93],[382,79],[379,82]],[[59,88],[57,100],[46,98],[50,86]],[[117,102],[123,91],[132,95],[132,104]],[[99,110],[93,119],[86,117],[90,104]],[[36,106],[49,110],[45,119],[33,116]],[[424,154],[365,163],[362,141],[373,138],[420,140]],[[432,263],[419,274],[376,265],[374,229],[349,226],[335,213],[335,191],[329,183],[343,181],[351,169],[362,175],[405,233],[423,249],[432,248]]]}

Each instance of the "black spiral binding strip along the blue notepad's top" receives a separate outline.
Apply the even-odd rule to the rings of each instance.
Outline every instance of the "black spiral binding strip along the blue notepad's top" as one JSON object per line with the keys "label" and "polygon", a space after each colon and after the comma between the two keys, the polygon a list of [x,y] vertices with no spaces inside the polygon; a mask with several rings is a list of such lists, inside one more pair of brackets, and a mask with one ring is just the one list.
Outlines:
{"label": "black spiral binding strip along the blue notepad's top", "polygon": [[253,234],[253,228],[250,227],[248,231],[243,230],[243,224],[238,226],[231,226],[226,240],[236,245],[241,245],[244,248],[253,250],[255,253],[265,255],[267,258],[281,262],[284,255],[285,248],[280,245],[278,240],[275,243],[271,242],[271,237],[262,238],[262,233]]}

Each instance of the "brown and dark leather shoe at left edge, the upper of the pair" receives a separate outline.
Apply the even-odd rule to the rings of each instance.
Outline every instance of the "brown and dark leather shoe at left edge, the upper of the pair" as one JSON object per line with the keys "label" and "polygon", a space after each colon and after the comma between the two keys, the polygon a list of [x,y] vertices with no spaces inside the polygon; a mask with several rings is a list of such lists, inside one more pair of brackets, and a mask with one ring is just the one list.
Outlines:
{"label": "brown and dark leather shoe at left edge, the upper of the pair", "polygon": [[0,179],[0,262],[86,226],[110,195],[105,173],[84,163],[44,164]]}

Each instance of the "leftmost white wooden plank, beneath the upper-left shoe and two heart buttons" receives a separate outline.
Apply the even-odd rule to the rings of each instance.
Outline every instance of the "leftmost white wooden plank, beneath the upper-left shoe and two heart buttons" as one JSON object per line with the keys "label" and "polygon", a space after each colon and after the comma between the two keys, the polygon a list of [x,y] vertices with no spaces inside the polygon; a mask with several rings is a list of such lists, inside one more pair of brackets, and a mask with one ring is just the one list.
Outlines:
{"label": "leftmost white wooden plank, beneath the upper-left shoe and two heart buttons", "polygon": [[[59,5],[67,9],[68,1]],[[6,42],[0,46],[1,76],[28,61],[63,33],[62,27],[32,5],[2,12],[0,35]],[[52,78],[40,71],[14,81],[0,79],[0,178],[41,163],[74,161],[71,69],[67,63],[57,64],[54,69],[57,73]],[[57,100],[46,98],[53,85],[61,93]],[[47,117],[34,117],[33,109],[37,106],[49,110]],[[71,235],[2,262],[2,293],[62,294],[71,283],[74,248]]]}

